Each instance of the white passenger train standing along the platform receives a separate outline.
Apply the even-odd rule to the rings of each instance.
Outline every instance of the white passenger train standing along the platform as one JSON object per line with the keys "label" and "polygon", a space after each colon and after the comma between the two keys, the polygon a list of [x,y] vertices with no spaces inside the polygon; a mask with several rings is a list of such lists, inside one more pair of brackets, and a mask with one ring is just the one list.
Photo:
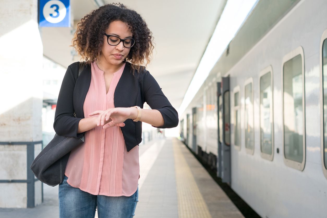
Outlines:
{"label": "white passenger train standing along the platform", "polygon": [[181,117],[261,217],[327,217],[327,0],[259,1]]}

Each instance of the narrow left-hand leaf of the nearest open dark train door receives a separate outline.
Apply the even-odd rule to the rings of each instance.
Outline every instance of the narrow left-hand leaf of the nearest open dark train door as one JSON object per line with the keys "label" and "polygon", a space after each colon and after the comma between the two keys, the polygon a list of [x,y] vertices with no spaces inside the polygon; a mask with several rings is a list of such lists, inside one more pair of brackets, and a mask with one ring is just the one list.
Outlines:
{"label": "narrow left-hand leaf of the nearest open dark train door", "polygon": [[218,156],[217,156],[217,176],[221,178],[221,141],[222,141],[222,126],[223,126],[223,119],[222,119],[222,95],[221,95],[221,82],[217,82],[217,107],[218,107]]}

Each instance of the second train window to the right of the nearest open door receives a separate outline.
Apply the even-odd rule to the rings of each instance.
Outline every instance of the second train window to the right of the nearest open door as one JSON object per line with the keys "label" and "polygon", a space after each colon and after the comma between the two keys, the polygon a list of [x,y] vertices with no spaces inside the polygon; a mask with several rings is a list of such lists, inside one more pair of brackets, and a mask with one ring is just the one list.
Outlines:
{"label": "second train window to the right of the nearest open door", "polygon": [[253,79],[250,78],[245,82],[244,98],[245,98],[245,148],[247,153],[254,152],[254,121],[253,121]]}

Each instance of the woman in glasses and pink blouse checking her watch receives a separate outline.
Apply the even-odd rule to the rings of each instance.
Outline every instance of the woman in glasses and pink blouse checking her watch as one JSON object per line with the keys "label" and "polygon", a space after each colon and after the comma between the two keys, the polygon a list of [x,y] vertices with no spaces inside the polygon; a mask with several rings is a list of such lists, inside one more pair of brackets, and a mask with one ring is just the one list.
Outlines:
{"label": "woman in glasses and pink blouse checking her watch", "polygon": [[[178,125],[177,111],[142,67],[153,45],[142,17],[105,5],[78,24],[73,46],[87,64],[71,64],[62,81],[54,129],[85,141],[70,152],[59,185],[60,217],[133,217],[138,201],[142,123]],[[143,104],[152,109],[142,109]],[[76,117],[74,117],[74,113]]]}

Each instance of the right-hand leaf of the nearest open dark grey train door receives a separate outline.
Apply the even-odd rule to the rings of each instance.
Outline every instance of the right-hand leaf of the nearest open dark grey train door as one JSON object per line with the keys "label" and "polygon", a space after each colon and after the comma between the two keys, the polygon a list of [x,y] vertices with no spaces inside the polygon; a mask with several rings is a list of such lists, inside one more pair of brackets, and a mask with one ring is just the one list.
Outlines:
{"label": "right-hand leaf of the nearest open dark grey train door", "polygon": [[221,143],[220,165],[222,182],[231,182],[231,137],[230,137],[230,91],[229,77],[221,78],[221,93],[218,97],[219,104],[219,140]]}

